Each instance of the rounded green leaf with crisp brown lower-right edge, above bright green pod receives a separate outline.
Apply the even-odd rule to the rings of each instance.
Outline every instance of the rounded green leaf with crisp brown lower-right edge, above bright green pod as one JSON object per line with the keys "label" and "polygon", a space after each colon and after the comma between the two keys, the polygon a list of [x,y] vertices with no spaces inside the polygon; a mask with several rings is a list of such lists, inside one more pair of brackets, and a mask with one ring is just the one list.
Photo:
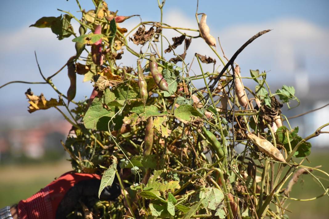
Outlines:
{"label": "rounded green leaf with crisp brown lower-right edge, above bright green pod", "polygon": [[185,124],[202,119],[202,115],[193,106],[187,104],[177,107],[174,116]]}

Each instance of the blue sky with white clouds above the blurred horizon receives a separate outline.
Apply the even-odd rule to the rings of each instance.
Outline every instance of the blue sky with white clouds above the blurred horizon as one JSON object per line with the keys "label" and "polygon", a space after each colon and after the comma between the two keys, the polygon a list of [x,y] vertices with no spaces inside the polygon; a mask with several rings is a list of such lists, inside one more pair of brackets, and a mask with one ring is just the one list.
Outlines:
{"label": "blue sky with white clouds above the blurred horizon", "polygon": [[[89,0],[80,3],[86,10],[93,7]],[[160,20],[156,0],[107,1],[107,3],[109,9],[118,10],[119,15],[140,14],[143,21]],[[74,43],[71,42],[73,37],[59,41],[50,29],[28,28],[42,16],[60,15],[61,12],[57,11],[57,8],[79,16],[80,13],[76,12],[79,9],[75,0],[0,1],[0,8],[3,9],[0,14],[0,37],[3,41],[0,50],[2,68],[0,84],[11,80],[41,81],[34,51],[37,52],[41,69],[46,76],[56,72],[71,55],[75,54]],[[303,71],[306,72],[306,81],[313,86],[317,81],[328,81],[328,9],[329,1],[325,0],[234,2],[200,0],[198,12],[208,14],[207,23],[211,33],[215,37],[220,37],[228,57],[255,33],[273,29],[255,40],[237,58],[242,76],[248,76],[249,69],[266,70],[270,71],[268,74],[270,84],[293,85],[297,74],[296,59],[301,57],[305,62]],[[172,26],[197,28],[195,10],[196,0],[167,0],[164,6],[164,22]],[[77,31],[78,25],[72,23]],[[139,18],[134,17],[120,26],[129,30],[138,23]],[[167,34],[169,39],[178,36],[177,33],[170,31]],[[189,50],[188,62],[195,52],[214,56],[200,39],[192,40]],[[180,52],[179,49],[177,51]],[[219,48],[218,51],[220,52]],[[167,57],[172,57],[172,54]],[[120,61],[126,65],[134,65],[136,62],[134,57],[126,53]],[[194,65],[192,70],[198,74],[199,70],[196,67]],[[205,68],[207,69],[207,66]],[[78,81],[82,81],[82,77],[78,77]],[[65,70],[54,79],[54,83],[59,90],[66,93],[69,82]],[[43,92],[48,99],[57,97],[47,85],[13,84],[0,90],[0,110],[6,112],[6,115],[27,116],[28,103],[24,92],[29,87],[37,95]],[[76,99],[89,96],[91,89],[90,83],[81,83]],[[40,116],[45,115],[45,112],[37,113]]]}

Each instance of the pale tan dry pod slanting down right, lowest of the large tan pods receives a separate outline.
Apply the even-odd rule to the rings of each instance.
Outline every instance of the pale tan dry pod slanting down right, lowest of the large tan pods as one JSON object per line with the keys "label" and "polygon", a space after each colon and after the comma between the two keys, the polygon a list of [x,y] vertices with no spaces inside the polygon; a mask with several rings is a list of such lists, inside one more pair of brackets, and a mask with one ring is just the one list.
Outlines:
{"label": "pale tan dry pod slanting down right, lowest of the large tan pods", "polygon": [[252,133],[247,134],[248,139],[250,139],[254,144],[257,145],[258,149],[268,155],[269,157],[273,158],[276,161],[280,161],[286,163],[283,155],[273,146],[273,144],[265,139],[261,139]]}

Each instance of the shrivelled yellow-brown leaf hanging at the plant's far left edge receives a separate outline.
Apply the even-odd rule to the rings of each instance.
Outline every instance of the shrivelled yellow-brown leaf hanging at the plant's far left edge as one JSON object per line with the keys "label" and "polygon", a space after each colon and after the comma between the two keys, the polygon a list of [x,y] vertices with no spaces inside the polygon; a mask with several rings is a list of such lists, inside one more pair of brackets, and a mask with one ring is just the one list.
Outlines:
{"label": "shrivelled yellow-brown leaf hanging at the plant's far left edge", "polygon": [[41,93],[40,96],[36,96],[33,95],[33,92],[31,91],[31,89],[29,88],[26,92],[25,92],[26,98],[29,99],[28,103],[30,103],[29,106],[29,113],[33,113],[34,111],[37,110],[45,110],[45,109],[49,109],[50,107],[54,107],[54,106],[63,106],[63,100],[60,99],[57,101],[57,99],[53,99],[51,98],[50,100],[46,100],[46,98],[43,96],[43,94]]}

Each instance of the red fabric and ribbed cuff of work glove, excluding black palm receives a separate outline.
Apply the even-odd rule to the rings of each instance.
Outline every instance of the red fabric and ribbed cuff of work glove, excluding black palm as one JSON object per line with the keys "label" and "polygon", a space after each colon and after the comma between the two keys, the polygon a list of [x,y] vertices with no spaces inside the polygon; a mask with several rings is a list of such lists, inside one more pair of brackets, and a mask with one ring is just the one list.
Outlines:
{"label": "red fabric and ribbed cuff of work glove, excluding black palm", "polygon": [[97,174],[67,172],[36,194],[18,203],[19,219],[55,219],[56,210],[66,192],[76,183],[101,179]]}

